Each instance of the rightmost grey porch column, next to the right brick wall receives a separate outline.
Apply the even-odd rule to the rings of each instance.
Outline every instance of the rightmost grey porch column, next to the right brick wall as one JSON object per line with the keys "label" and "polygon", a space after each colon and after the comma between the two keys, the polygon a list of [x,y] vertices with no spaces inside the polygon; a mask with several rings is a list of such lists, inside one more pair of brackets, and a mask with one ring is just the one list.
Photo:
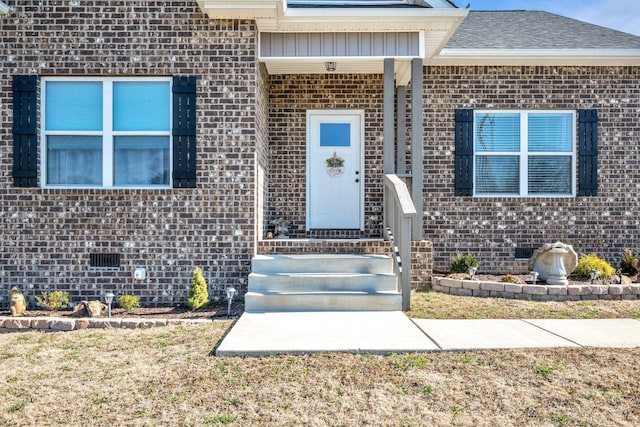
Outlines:
{"label": "rightmost grey porch column, next to the right brick wall", "polygon": [[423,124],[423,93],[422,81],[424,79],[422,59],[415,58],[411,61],[411,198],[416,208],[414,217],[412,239],[422,240],[423,205],[424,196],[424,124]]}

